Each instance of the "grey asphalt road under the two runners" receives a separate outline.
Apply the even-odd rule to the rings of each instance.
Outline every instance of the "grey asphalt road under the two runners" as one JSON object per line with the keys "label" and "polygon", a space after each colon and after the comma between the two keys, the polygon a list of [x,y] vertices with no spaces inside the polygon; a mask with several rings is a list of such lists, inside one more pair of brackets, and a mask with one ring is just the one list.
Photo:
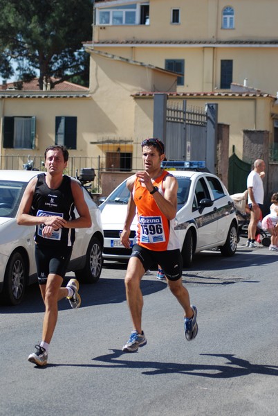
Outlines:
{"label": "grey asphalt road under the two runners", "polygon": [[131,331],[126,266],[105,262],[98,284],[81,286],[80,309],[60,302],[47,367],[27,361],[44,315],[31,286],[20,306],[0,306],[0,415],[277,415],[277,260],[243,245],[228,259],[198,254],[183,272],[198,307],[192,342],[166,284],[146,275],[147,345],[135,354],[121,351]]}

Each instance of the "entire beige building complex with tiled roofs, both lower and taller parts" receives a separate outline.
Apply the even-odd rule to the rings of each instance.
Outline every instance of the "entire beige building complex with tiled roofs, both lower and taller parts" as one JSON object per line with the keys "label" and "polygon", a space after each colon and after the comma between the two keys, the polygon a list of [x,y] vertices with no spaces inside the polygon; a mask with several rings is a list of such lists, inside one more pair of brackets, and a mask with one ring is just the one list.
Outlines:
{"label": "entire beige building complex with tiled roofs, both lower and taller parts", "polygon": [[267,132],[278,146],[277,12],[273,0],[95,1],[92,41],[84,43],[89,89],[0,89],[0,168],[21,168],[28,155],[62,143],[74,158],[71,174],[94,167],[127,175],[141,166],[140,141],[153,134],[156,92],[192,107],[217,103],[230,154],[243,157],[245,130]]}

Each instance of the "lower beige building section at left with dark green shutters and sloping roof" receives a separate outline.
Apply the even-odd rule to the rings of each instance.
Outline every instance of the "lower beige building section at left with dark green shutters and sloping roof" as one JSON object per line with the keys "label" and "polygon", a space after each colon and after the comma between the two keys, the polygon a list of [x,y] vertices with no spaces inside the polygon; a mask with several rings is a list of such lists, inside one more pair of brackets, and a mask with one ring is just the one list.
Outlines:
{"label": "lower beige building section at left with dark green shutters and sloping roof", "polygon": [[[142,113],[132,96],[154,86],[172,91],[176,74],[97,51],[92,56],[90,89],[62,83],[40,91],[37,80],[1,86],[1,169],[21,169],[28,159],[40,168],[50,144],[70,150],[71,175],[85,167],[125,172],[112,187],[142,167],[134,154],[140,150],[137,141],[151,135],[152,102]],[[100,178],[95,187],[102,187]]]}

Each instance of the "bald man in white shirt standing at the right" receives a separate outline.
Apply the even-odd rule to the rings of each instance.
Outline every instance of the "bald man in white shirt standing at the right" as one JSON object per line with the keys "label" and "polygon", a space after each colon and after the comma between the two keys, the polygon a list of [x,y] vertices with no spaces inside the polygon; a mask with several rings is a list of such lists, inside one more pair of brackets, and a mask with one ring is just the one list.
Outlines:
{"label": "bald man in white shirt standing at the right", "polygon": [[248,225],[248,241],[246,247],[254,248],[258,246],[256,241],[256,229],[261,216],[263,207],[263,181],[260,173],[266,168],[262,159],[254,161],[254,169],[249,173],[247,178],[248,187],[248,207],[250,209],[250,223]]}

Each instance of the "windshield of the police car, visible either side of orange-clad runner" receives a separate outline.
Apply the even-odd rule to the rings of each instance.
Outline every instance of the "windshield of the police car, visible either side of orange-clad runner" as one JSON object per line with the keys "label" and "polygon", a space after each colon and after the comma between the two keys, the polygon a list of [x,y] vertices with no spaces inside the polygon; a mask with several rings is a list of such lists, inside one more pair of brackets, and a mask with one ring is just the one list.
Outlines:
{"label": "windshield of the police car, visible either side of orange-clad runner", "polygon": [[[179,176],[178,180],[178,209],[180,209],[187,201],[191,180],[189,177]],[[129,190],[126,182],[123,182],[118,189],[106,199],[105,204],[127,204],[129,202]]]}

